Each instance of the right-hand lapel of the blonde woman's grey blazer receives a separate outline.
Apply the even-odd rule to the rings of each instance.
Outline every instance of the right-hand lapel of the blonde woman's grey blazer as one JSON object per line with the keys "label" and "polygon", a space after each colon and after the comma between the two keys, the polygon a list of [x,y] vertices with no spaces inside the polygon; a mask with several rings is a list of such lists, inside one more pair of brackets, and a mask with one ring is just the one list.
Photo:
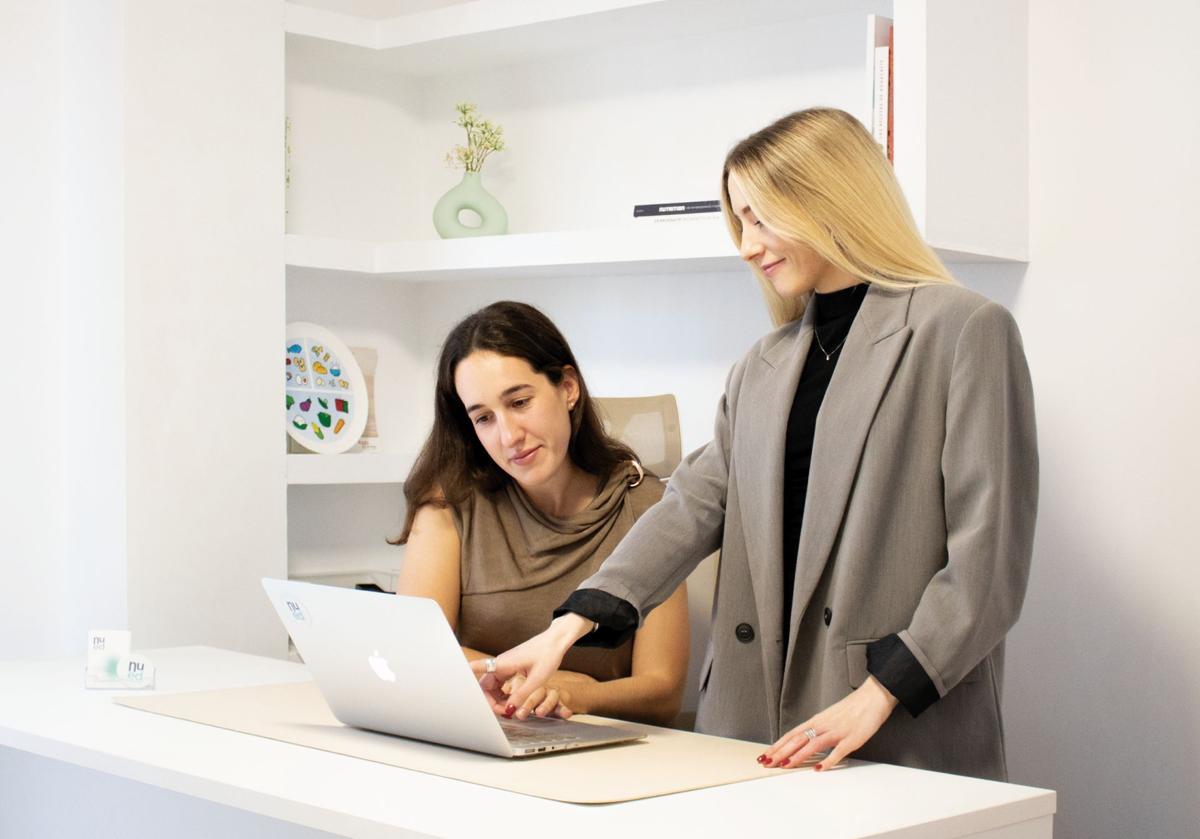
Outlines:
{"label": "right-hand lapel of the blonde woman's grey blazer", "polygon": [[[817,413],[796,562],[788,651],[796,651],[800,619],[841,529],[866,433],[912,334],[906,325],[911,296],[912,290],[895,292],[878,286],[868,289]],[[782,481],[778,486],[781,496]],[[776,552],[780,550],[778,547]],[[792,652],[787,665],[794,658],[796,652]],[[788,670],[790,666],[785,666],[785,684],[790,679]]]}

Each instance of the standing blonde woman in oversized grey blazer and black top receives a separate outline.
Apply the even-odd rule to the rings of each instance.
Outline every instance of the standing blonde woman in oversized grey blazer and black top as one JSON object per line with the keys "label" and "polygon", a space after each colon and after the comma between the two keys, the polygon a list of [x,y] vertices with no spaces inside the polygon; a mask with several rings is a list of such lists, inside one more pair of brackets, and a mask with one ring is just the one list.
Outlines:
{"label": "standing blonde woman in oversized grey blazer and black top", "polygon": [[1038,474],[1016,325],[953,281],[844,112],[742,140],[721,192],[778,329],[730,372],[713,441],[548,629],[478,667],[481,684],[498,709],[518,703],[719,547],[697,730],[770,744],[769,767],[857,754],[1004,779],[1004,636]]}

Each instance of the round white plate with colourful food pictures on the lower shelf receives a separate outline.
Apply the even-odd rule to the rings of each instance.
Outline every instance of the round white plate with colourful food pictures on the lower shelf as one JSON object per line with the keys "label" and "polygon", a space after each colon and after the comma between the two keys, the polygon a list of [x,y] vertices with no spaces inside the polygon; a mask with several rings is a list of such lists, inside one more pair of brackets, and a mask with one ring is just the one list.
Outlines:
{"label": "round white plate with colourful food pictures on the lower shelf", "polygon": [[324,455],[346,451],[367,424],[367,385],[350,348],[324,326],[287,328],[283,361],[288,435]]}

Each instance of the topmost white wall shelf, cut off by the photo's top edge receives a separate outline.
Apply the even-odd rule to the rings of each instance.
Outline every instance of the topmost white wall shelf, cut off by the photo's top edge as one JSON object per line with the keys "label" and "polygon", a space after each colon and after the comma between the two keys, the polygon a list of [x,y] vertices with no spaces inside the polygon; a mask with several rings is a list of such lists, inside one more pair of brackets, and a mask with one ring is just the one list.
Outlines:
{"label": "topmost white wall shelf, cut off by the photo's top edge", "polygon": [[[794,20],[877,5],[863,0],[742,0],[734,23]],[[437,76],[620,42],[721,32],[730,24],[726,0],[474,0],[388,19],[286,2],[283,25],[289,35],[384,52],[389,66],[410,76]]]}

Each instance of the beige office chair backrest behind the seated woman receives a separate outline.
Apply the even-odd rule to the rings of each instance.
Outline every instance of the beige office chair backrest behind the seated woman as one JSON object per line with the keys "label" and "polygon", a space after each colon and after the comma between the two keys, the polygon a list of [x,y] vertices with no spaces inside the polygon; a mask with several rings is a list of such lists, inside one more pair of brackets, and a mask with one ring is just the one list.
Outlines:
{"label": "beige office chair backrest behind the seated woman", "polygon": [[[605,430],[637,455],[647,472],[667,478],[683,459],[679,409],[674,395],[596,397]],[[674,727],[691,730],[700,699],[700,666],[712,635],[713,593],[720,552],[706,558],[688,577],[688,623],[691,651],[683,709]]]}

